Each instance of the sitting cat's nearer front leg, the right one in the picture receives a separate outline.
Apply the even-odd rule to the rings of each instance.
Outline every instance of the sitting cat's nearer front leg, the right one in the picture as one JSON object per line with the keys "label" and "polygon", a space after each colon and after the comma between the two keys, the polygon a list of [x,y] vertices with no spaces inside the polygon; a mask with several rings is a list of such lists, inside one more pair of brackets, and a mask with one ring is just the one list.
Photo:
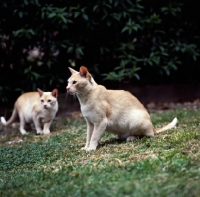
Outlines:
{"label": "sitting cat's nearer front leg, the right one in the picture", "polygon": [[104,131],[106,130],[106,127],[107,127],[107,119],[104,119],[99,124],[94,124],[94,131],[92,133],[89,147],[86,148],[86,151],[96,150],[99,140],[103,135]]}

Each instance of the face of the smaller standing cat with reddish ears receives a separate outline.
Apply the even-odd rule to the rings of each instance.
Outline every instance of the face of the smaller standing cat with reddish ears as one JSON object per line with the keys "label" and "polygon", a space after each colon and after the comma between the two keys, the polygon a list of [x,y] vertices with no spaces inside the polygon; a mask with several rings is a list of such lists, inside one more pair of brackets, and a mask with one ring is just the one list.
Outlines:
{"label": "face of the smaller standing cat with reddish ears", "polygon": [[54,89],[52,92],[43,92],[38,88],[40,94],[41,105],[44,109],[52,109],[57,103],[58,90]]}

